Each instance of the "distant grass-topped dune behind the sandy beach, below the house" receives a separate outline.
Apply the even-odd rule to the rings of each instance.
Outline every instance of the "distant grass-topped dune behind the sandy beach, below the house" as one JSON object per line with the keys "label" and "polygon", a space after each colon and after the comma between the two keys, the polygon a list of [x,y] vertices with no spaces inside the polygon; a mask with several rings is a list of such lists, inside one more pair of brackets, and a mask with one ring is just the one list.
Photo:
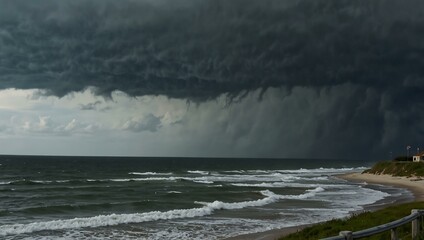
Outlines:
{"label": "distant grass-topped dune behind the sandy beach, below the house", "polygon": [[384,161],[376,163],[366,173],[389,174],[392,176],[424,177],[424,163]]}

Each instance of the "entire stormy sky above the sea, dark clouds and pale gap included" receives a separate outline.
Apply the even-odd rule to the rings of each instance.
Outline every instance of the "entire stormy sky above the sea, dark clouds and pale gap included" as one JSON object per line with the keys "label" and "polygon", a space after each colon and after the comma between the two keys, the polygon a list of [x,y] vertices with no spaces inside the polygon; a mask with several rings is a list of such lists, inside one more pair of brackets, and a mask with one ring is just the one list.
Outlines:
{"label": "entire stormy sky above the sea, dark clouds and pale gap included", "polygon": [[381,159],[422,146],[422,1],[0,5],[1,153]]}

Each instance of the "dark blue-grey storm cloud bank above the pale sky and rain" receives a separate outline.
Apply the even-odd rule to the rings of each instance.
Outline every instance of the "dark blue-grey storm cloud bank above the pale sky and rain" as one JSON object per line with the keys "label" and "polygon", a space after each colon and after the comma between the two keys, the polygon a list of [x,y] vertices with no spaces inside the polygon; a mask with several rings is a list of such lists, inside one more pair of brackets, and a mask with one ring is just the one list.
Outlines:
{"label": "dark blue-grey storm cloud bank above the pale sky and rain", "polygon": [[1,88],[63,96],[95,86],[101,95],[122,90],[193,100],[348,82],[399,98],[424,90],[419,0],[2,0],[1,6]]}

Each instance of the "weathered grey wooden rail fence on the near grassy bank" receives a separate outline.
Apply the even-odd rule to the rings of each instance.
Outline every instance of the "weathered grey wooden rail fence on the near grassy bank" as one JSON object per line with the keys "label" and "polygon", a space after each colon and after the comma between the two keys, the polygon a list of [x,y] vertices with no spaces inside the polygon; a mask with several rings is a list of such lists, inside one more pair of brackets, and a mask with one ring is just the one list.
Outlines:
{"label": "weathered grey wooden rail fence on the near grassy bank", "polygon": [[368,228],[365,230],[360,230],[357,232],[351,231],[341,231],[339,236],[324,238],[321,240],[353,240],[353,239],[361,239],[364,237],[369,237],[378,233],[389,231],[391,232],[391,240],[398,240],[397,237],[397,228],[412,223],[411,235],[412,239],[417,239],[418,233],[420,232],[420,224],[419,220],[421,220],[424,216],[424,210],[413,209],[411,211],[411,215],[406,216],[404,218],[395,220],[390,223],[386,223],[383,225],[379,225],[376,227]]}

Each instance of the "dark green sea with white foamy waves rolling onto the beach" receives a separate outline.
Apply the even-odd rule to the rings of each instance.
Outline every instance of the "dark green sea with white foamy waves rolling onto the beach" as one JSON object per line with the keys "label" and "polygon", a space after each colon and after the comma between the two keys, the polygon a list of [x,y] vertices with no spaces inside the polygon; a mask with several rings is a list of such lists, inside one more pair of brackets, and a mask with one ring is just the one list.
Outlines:
{"label": "dark green sea with white foamy waves rolling onto the beach", "polygon": [[225,239],[341,218],[410,194],[335,177],[369,165],[0,156],[0,238]]}

